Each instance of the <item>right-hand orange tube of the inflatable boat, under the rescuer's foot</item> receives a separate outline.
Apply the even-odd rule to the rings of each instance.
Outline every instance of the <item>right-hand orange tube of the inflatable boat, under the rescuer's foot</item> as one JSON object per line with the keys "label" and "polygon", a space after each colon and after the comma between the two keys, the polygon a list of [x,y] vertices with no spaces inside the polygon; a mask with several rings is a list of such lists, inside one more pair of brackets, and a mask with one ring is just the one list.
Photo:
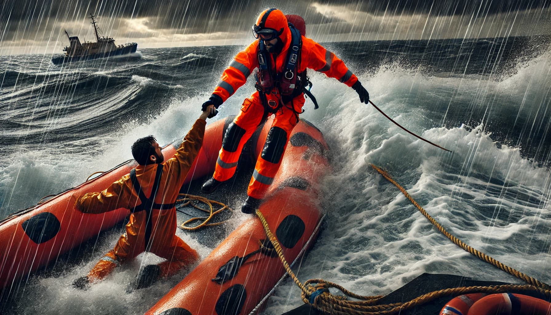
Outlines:
{"label": "right-hand orange tube of the inflatable boat, under the rescuer's foot", "polygon": [[[255,156],[269,126],[271,122],[253,145]],[[329,168],[327,153],[321,132],[301,120],[291,132],[281,167],[260,206],[288,261],[300,257],[320,226],[319,194]],[[279,257],[263,250],[266,238],[260,220],[251,216],[146,314],[255,312],[285,275]]]}

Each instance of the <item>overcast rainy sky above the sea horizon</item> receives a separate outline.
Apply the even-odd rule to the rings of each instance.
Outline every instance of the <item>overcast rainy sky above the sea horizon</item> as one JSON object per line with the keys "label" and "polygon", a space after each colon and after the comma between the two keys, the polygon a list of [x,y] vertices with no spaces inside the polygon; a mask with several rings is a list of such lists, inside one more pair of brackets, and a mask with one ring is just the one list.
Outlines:
{"label": "overcast rainy sky above the sea horizon", "polygon": [[320,42],[551,34],[551,0],[1,0],[0,54],[62,53],[64,29],[95,40],[88,13],[101,35],[138,50],[247,44],[271,7],[304,17]]}

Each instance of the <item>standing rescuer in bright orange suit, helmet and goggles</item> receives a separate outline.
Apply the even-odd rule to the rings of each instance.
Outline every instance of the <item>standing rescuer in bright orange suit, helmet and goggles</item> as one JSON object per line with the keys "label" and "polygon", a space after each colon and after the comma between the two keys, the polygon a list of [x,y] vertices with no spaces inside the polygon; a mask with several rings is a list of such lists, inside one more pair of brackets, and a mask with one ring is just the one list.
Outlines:
{"label": "standing rescuer in bright orange suit, helmet and goggles", "polygon": [[358,78],[348,70],[344,62],[317,42],[300,34],[296,35],[280,10],[268,9],[262,12],[253,25],[253,34],[258,40],[235,56],[229,68],[222,74],[222,81],[203,104],[203,109],[209,105],[218,108],[258,68],[257,92],[245,99],[239,115],[229,125],[214,175],[202,186],[203,193],[209,194],[230,179],[235,173],[245,142],[264,119],[275,114],[276,118],[268,131],[249,183],[249,196],[241,208],[245,213],[252,213],[260,206],[282,161],[289,133],[299,121],[304,105],[306,68],[338,79],[356,90],[361,102],[368,104],[369,101],[368,91],[361,86]]}

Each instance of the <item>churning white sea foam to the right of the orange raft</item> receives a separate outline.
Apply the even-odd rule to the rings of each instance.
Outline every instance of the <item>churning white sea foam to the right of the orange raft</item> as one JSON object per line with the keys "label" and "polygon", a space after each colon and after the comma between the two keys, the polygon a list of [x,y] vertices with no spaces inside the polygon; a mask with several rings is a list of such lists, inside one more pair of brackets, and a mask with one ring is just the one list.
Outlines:
{"label": "churning white sea foam to the right of the orange raft", "polygon": [[[309,111],[303,117],[325,132],[337,165],[327,182],[327,228],[302,264],[299,278],[321,277],[364,295],[388,293],[424,272],[519,282],[442,236],[395,186],[370,168],[374,163],[386,168],[457,237],[549,282],[544,270],[551,258],[550,239],[542,233],[548,230],[542,226],[551,224],[549,170],[523,157],[518,147],[498,146],[483,125],[430,127],[424,115],[427,106],[414,106],[419,100],[446,99],[453,93],[454,99],[480,98],[481,93],[500,98],[509,81],[532,82],[509,94],[518,95],[522,89],[537,94],[547,87],[549,67],[529,68],[546,62],[534,60],[502,82],[487,82],[478,75],[425,77],[397,66],[360,78],[387,114],[453,153],[406,134],[375,109],[359,104],[353,90],[315,76],[321,113]],[[515,102],[504,106],[521,108]],[[338,193],[334,187],[340,188]],[[283,313],[301,303],[300,292],[289,281],[271,298],[266,312]]]}

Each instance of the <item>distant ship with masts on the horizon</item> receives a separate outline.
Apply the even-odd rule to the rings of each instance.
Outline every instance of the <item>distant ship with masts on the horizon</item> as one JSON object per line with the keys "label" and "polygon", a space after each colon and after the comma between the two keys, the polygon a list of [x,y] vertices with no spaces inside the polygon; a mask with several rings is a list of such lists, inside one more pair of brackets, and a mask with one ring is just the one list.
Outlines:
{"label": "distant ship with masts on the horizon", "polygon": [[99,36],[98,35],[98,26],[96,26],[96,16],[90,14],[90,19],[92,22],[90,24],[94,25],[94,34],[96,36],[96,41],[84,41],[80,42],[78,36],[69,36],[67,31],[65,34],[69,38],[69,46],[66,46],[63,51],[65,55],[53,57],[52,62],[54,65],[61,65],[66,62],[73,61],[84,61],[98,58],[106,58],[112,56],[120,56],[132,54],[136,52],[138,44],[135,42],[129,42],[123,45],[115,45],[115,40],[109,36]]}

